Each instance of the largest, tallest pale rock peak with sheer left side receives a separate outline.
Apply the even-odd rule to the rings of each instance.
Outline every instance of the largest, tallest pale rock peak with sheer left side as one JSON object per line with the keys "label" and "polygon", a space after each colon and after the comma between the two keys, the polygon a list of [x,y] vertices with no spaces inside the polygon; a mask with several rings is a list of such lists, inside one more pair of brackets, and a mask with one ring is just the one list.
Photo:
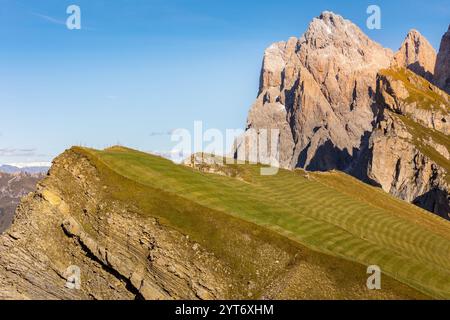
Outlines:
{"label": "largest, tallest pale rock peak with sheer left side", "polygon": [[[324,12],[300,39],[266,50],[247,129],[280,131],[281,167],[346,169],[372,131],[376,74],[391,58],[356,25]],[[237,157],[254,141],[238,141]]]}

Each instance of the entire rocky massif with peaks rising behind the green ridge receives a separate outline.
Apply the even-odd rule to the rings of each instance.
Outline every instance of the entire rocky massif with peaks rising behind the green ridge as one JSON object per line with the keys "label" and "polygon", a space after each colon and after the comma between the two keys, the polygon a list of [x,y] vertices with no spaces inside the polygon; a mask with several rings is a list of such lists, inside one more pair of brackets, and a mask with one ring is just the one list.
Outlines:
{"label": "entire rocky massif with peaks rising behind the green ridge", "polygon": [[[449,65],[445,39],[440,74]],[[289,169],[342,170],[447,217],[450,98],[428,81],[435,64],[434,49],[418,31],[408,33],[394,56],[350,21],[324,12],[301,38],[265,51],[258,98],[235,156]],[[396,114],[412,122],[408,128],[420,139],[387,129],[401,127]],[[409,169],[396,173],[403,165]]]}

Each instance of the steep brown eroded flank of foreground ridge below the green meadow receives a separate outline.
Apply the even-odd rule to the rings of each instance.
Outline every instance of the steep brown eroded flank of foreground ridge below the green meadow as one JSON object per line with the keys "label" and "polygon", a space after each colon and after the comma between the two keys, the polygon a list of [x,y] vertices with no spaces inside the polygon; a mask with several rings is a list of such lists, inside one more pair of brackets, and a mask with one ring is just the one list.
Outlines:
{"label": "steep brown eroded flank of foreground ridge below the green meadow", "polygon": [[[162,210],[191,232],[156,218]],[[65,287],[70,266],[80,290]],[[54,161],[0,235],[0,299],[423,297],[388,277],[369,291],[366,277],[362,265],[136,184],[81,148]]]}

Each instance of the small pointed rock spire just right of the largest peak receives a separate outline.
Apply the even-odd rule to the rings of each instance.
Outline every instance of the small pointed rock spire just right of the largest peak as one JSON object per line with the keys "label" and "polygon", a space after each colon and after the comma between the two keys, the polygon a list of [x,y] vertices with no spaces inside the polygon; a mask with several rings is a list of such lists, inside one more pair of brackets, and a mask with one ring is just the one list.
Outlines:
{"label": "small pointed rock spire just right of the largest peak", "polygon": [[393,66],[410,69],[432,81],[436,65],[436,51],[417,30],[411,30],[395,54]]}

